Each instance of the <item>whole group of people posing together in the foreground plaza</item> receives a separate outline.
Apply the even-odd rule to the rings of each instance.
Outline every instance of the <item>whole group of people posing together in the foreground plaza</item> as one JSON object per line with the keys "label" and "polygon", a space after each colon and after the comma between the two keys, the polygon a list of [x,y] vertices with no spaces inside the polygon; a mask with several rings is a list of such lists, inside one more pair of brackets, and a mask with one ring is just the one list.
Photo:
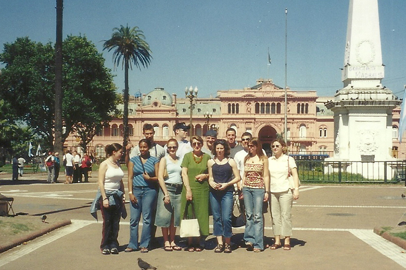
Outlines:
{"label": "whole group of people posing together in the foreground plaza", "polygon": [[[124,251],[148,252],[155,226],[161,227],[165,251],[182,250],[175,243],[175,234],[184,216],[197,218],[202,236],[188,238],[186,250],[203,250],[202,241],[209,235],[211,207],[213,235],[218,242],[214,252],[231,253],[235,188],[245,205],[247,250],[264,250],[262,210],[268,202],[275,234],[275,243],[270,249],[280,248],[281,237],[284,237],[284,249],[290,250],[291,207],[293,200],[299,197],[299,180],[294,159],[285,155],[286,143],[282,139],[274,140],[274,156],[268,159],[258,138],[252,138],[248,132],[242,135],[242,145],[239,145],[234,129],[226,131],[227,140],[217,139],[216,132],[210,130],[204,145],[200,136],[191,136],[187,141],[188,129],[189,126],[183,123],[176,124],[175,138],[162,147],[154,142],[153,126],[146,124],[143,128],[145,139],[132,150],[132,145],[127,145],[125,162],[131,216],[130,239]],[[119,144],[113,145],[106,147],[108,158],[100,164],[99,191],[92,207],[93,213],[102,209],[100,249],[103,254],[118,253],[118,223],[125,212],[123,174],[118,163],[123,149]],[[112,181],[114,194],[109,193]],[[141,217],[143,228],[139,242]]]}

